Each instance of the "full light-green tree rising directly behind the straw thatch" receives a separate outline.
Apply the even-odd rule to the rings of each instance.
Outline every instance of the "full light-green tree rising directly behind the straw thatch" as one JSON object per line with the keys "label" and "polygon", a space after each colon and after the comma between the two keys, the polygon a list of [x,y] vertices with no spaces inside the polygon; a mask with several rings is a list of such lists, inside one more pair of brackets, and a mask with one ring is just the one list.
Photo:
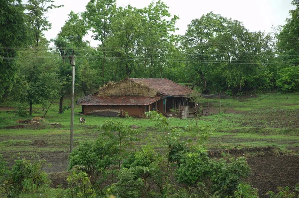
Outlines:
{"label": "full light-green tree rising directly behind the straw thatch", "polygon": [[[139,9],[130,5],[118,8],[112,23],[112,34],[107,39],[106,47],[112,58],[109,61],[113,68],[113,80],[128,78],[137,70],[144,71],[138,61],[138,45],[144,35],[143,16]],[[138,69],[137,69],[138,68]]]}

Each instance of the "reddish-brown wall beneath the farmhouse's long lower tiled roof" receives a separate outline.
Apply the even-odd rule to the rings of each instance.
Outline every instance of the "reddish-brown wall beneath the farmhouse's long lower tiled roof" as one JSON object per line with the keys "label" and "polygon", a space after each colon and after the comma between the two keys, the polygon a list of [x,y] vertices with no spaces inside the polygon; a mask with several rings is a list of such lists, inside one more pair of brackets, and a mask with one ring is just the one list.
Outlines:
{"label": "reddish-brown wall beneath the farmhouse's long lower tiled roof", "polygon": [[94,110],[121,110],[123,112],[128,112],[129,116],[132,117],[142,117],[145,112],[145,106],[82,106],[85,115],[89,114],[90,111]]}

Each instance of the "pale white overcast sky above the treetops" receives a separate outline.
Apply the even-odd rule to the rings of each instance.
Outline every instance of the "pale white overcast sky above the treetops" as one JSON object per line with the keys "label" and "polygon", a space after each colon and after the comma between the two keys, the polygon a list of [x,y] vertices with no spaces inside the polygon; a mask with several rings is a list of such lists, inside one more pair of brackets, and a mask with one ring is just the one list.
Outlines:
{"label": "pale white overcast sky above the treetops", "polygon": [[[152,1],[157,0],[117,0],[118,6],[143,8]],[[294,9],[292,0],[162,0],[169,7],[171,15],[178,15],[180,19],[176,22],[179,30],[176,34],[185,34],[187,25],[192,19],[200,18],[203,14],[214,12],[224,17],[243,22],[250,31],[270,32],[271,27],[284,25],[289,16],[289,10]],[[47,39],[55,38],[60,28],[67,20],[70,11],[83,12],[89,0],[55,0],[56,5],[63,4],[64,7],[51,10],[47,16],[52,29],[44,32]],[[97,42],[90,37],[86,38],[93,47]]]}

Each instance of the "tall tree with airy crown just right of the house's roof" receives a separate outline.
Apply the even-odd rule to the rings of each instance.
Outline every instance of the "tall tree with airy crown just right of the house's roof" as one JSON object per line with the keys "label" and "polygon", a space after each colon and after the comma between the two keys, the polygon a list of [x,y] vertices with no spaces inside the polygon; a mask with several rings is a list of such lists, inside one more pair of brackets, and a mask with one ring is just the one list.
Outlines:
{"label": "tall tree with airy crown just right of the house's roof", "polygon": [[226,22],[226,18],[210,12],[188,25],[184,41],[188,73],[193,83],[201,85],[203,90],[208,88],[207,78],[217,69],[215,63],[221,61],[215,56],[218,53],[215,40],[224,31]]}

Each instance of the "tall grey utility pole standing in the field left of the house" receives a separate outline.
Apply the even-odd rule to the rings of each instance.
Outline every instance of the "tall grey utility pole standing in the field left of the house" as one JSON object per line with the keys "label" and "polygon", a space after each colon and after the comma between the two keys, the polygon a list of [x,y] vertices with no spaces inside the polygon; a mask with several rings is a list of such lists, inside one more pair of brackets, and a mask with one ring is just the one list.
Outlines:
{"label": "tall grey utility pole standing in the field left of the house", "polygon": [[69,56],[72,70],[72,106],[71,106],[71,140],[70,140],[70,152],[73,152],[74,145],[74,98],[75,98],[75,51]]}

